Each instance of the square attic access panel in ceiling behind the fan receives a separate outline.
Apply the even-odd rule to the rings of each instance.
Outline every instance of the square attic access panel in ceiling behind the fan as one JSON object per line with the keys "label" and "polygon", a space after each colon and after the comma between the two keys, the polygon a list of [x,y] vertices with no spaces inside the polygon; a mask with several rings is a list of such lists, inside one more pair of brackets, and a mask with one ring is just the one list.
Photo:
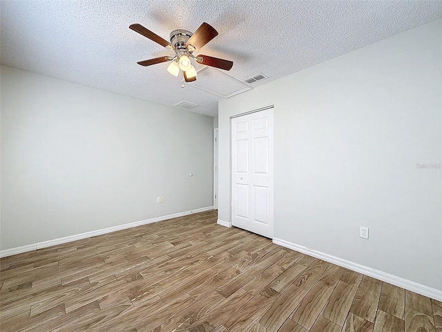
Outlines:
{"label": "square attic access panel in ceiling behind the fan", "polygon": [[253,87],[237,80],[226,72],[207,66],[198,71],[195,82],[188,83],[186,86],[192,86],[222,98],[229,98],[233,95],[238,95],[238,93],[253,89]]}

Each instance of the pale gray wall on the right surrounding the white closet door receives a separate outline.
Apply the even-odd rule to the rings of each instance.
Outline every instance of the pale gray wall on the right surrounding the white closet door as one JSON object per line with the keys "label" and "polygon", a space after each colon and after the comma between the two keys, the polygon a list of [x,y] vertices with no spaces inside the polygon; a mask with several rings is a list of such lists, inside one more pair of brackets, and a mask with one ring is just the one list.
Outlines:
{"label": "pale gray wall on the right surrounding the white closet door", "polygon": [[222,221],[229,117],[270,104],[275,237],[442,290],[442,20],[221,100]]}

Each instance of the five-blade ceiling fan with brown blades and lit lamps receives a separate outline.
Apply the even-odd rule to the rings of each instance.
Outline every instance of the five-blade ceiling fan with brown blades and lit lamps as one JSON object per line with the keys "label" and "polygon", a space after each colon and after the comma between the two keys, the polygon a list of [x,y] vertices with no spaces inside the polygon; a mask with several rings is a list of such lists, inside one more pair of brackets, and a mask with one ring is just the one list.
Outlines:
{"label": "five-blade ceiling fan with brown blades and lit lamps", "polygon": [[181,69],[186,82],[193,82],[196,80],[196,71],[191,63],[191,59],[195,59],[199,64],[224,69],[224,71],[229,71],[233,66],[233,62],[229,60],[219,59],[218,57],[209,57],[209,55],[193,55],[193,52],[200,50],[202,46],[218,35],[218,31],[206,22],[201,24],[195,33],[182,29],[173,30],[170,36],[170,43],[167,42],[166,39],[153,33],[151,30],[144,28],[141,24],[131,24],[129,28],[140,33],[140,35],[151,39],[153,42],[160,44],[165,48],[169,48],[169,50],[175,51],[175,56],[155,57],[153,59],[137,62],[137,64],[142,66],[151,66],[152,64],[171,61],[167,71],[172,75],[177,76]]}

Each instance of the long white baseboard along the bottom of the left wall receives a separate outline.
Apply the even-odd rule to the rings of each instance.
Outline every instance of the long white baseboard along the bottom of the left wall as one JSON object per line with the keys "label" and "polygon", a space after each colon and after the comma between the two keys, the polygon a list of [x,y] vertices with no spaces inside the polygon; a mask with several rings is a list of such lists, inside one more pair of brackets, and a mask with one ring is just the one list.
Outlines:
{"label": "long white baseboard along the bottom of the left wall", "polygon": [[148,223],[156,223],[157,221],[164,221],[168,219],[177,218],[179,216],[187,216],[189,214],[194,214],[198,212],[205,212],[213,210],[213,206],[207,206],[206,208],[199,208],[195,210],[189,210],[184,212],[177,212],[174,214],[168,214],[166,216],[157,216],[155,218],[146,219],[142,221],[135,221],[133,223],[125,223],[123,225],[112,226],[108,228],[103,228],[102,230],[93,230],[90,232],[85,232],[81,234],[70,235],[69,237],[61,237],[59,239],[53,239],[49,241],[43,241],[33,244],[28,244],[26,246],[21,246],[17,248],[10,248],[5,250],[0,250],[0,257],[7,257],[12,255],[21,254],[23,252],[28,252],[32,250],[37,250],[41,248],[47,248],[51,246],[57,246],[57,244],[68,243],[72,241],[77,241],[81,239],[87,239],[88,237],[96,237],[97,235],[107,234],[111,232],[116,232],[117,230],[126,230],[127,228],[133,228],[141,225],[146,225]]}

